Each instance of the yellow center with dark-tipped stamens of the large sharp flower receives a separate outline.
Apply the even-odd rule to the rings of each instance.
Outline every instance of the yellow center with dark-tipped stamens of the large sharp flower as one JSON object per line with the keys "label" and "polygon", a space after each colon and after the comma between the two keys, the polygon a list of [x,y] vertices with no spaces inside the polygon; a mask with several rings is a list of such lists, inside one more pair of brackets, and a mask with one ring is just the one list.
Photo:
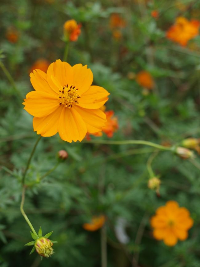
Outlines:
{"label": "yellow center with dark-tipped stamens of the large sharp flower", "polygon": [[78,99],[81,98],[78,95],[78,88],[76,88],[76,85],[69,85],[65,84],[61,90],[59,90],[59,105],[65,105],[66,108],[72,108],[73,105],[78,104]]}

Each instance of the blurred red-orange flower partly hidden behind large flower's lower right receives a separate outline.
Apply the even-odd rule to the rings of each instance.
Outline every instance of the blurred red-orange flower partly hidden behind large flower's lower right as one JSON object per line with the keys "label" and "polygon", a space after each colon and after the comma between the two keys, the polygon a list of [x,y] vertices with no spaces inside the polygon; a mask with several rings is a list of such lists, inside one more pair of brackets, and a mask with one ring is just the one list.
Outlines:
{"label": "blurred red-orange flower partly hidden behind large flower's lower right", "polygon": [[[114,115],[113,110],[108,110],[105,112],[105,114],[106,114],[106,119],[107,119],[106,125],[102,128],[102,131],[99,131],[97,133],[93,133],[92,135],[102,136],[102,134],[105,133],[107,135],[107,137],[112,138],[114,132],[116,132],[117,129],[119,128],[118,118],[113,117],[113,115]],[[87,138],[87,140],[90,140],[90,135],[87,134],[86,138]]]}

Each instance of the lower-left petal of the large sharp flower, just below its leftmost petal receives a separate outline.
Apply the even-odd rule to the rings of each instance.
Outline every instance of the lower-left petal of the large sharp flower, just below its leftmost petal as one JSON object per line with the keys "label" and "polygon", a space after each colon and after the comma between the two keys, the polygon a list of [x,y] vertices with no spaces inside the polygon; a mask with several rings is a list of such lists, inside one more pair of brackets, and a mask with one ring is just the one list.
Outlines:
{"label": "lower-left petal of the large sharp flower, just below its leftmost petal", "polygon": [[58,122],[64,106],[59,107],[46,117],[33,118],[33,129],[42,136],[53,136],[58,133]]}

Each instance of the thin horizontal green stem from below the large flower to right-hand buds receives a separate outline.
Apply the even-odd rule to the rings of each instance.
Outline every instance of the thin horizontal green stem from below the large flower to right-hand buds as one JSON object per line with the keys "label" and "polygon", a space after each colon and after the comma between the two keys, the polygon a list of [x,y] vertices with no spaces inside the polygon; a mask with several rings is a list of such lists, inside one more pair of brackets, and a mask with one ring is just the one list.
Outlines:
{"label": "thin horizontal green stem from below the large flower to right-hand buds", "polygon": [[146,146],[153,146],[155,148],[158,148],[160,150],[172,150],[172,147],[166,147],[166,146],[161,146],[158,144],[155,144],[153,142],[145,141],[145,140],[124,140],[124,141],[110,141],[110,140],[90,140],[90,141],[85,141],[86,143],[91,143],[91,144],[105,144],[105,145],[146,145]]}

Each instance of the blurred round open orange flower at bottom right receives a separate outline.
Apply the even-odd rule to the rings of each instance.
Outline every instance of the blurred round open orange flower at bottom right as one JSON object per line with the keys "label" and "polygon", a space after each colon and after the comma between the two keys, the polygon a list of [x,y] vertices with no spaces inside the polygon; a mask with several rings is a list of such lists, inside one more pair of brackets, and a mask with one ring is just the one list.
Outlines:
{"label": "blurred round open orange flower at bottom right", "polygon": [[186,240],[193,220],[185,207],[179,207],[176,201],[170,200],[157,209],[156,215],[151,218],[151,226],[155,239],[163,240],[167,246],[174,246],[178,239]]}

